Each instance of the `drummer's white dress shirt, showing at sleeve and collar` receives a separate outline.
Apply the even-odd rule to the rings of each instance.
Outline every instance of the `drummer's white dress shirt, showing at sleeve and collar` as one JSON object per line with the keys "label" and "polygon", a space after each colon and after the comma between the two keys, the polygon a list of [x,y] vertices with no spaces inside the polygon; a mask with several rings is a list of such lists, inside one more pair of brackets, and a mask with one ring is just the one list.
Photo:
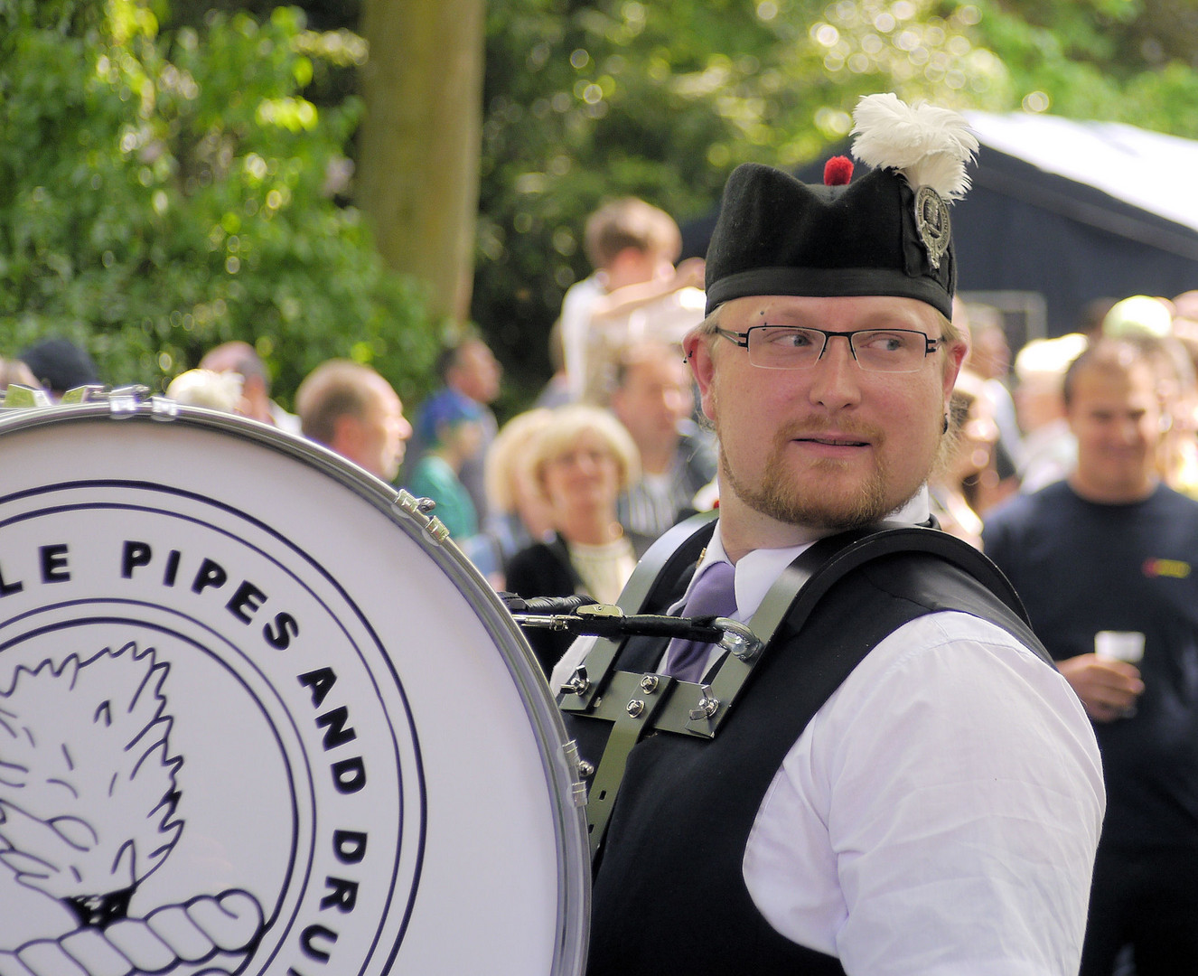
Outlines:
{"label": "drummer's white dress shirt, showing at sleeve and collar", "polygon": [[[738,619],[804,548],[737,562]],[[716,559],[718,525],[698,570]],[[555,688],[591,646],[570,647]],[[778,932],[851,976],[1073,974],[1105,805],[1067,682],[993,623],[928,614],[882,640],[791,748],[745,885]]]}

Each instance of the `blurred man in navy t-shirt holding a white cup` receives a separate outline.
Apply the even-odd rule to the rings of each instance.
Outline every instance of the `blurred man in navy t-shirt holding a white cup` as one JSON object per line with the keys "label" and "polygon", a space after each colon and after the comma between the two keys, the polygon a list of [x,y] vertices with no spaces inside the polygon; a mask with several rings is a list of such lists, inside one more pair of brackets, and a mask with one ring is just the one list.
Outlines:
{"label": "blurred man in navy t-shirt holding a white cup", "polygon": [[1070,367],[1078,457],[986,520],[986,554],[1095,725],[1107,815],[1082,976],[1198,972],[1198,502],[1160,482],[1152,373],[1099,341]]}

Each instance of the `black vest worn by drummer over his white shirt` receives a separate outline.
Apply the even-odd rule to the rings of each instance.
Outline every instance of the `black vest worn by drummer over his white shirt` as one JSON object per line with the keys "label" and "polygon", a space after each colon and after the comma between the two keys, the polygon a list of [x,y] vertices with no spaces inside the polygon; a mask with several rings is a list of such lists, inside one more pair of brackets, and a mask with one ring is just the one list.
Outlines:
{"label": "black vest worn by drummer over his white shirt", "polygon": [[[754,905],[742,872],[749,832],[782,759],[849,671],[903,623],[946,609],[990,620],[1047,659],[969,574],[928,554],[889,555],[839,580],[800,632],[779,628],[714,740],[658,733],[634,747],[595,866],[588,976],[843,974]],[[662,651],[633,638],[617,667],[653,670]],[[567,723],[598,765],[607,723]]]}

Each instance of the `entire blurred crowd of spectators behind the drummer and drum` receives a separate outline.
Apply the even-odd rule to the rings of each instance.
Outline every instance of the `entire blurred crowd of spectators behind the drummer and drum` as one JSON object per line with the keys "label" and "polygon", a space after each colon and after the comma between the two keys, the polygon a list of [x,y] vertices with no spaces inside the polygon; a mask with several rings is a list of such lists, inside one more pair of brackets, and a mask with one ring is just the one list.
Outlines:
{"label": "entire blurred crowd of spectators behind the drummer and drum", "polygon": [[[369,366],[329,360],[288,412],[243,342],[208,350],[165,394],[271,424],[431,499],[496,590],[615,602],[654,540],[719,505],[719,446],[680,345],[703,318],[703,263],[678,264],[677,224],[636,199],[594,213],[586,246],[594,273],[564,297],[556,372],[502,426],[491,406],[502,369],[477,332],[443,350],[435,391],[411,409]],[[1151,953],[1192,962],[1198,912],[1198,847],[1176,815],[1193,764],[1169,752],[1193,737],[1198,712],[1160,704],[1198,687],[1178,623],[1198,613],[1181,585],[1198,538],[1198,290],[1096,301],[1076,331],[1019,348],[994,307],[958,296],[952,318],[969,353],[927,484],[932,516],[1016,585],[1103,753],[1111,801],[1090,915],[1108,938],[1088,940],[1083,972],[1176,971],[1152,969]],[[61,338],[0,359],[7,406],[120,381]],[[549,676],[570,638],[527,637]],[[1129,905],[1149,906],[1138,927],[1125,924]],[[1191,933],[1182,948],[1175,932]]]}

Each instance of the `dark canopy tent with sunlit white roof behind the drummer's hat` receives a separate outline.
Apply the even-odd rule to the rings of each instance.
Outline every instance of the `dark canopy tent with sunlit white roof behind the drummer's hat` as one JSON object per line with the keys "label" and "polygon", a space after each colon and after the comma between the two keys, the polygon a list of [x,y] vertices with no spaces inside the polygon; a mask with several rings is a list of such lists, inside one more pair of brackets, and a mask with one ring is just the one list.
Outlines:
{"label": "dark canopy tent with sunlit white roof behind the drummer's hat", "polygon": [[[1015,345],[1075,331],[1101,299],[1198,289],[1198,143],[1113,122],[967,115],[981,149],[973,188],[951,209],[958,291],[1002,307]],[[824,158],[799,177],[821,181]],[[684,254],[704,253],[714,224],[713,212],[684,225]]]}

